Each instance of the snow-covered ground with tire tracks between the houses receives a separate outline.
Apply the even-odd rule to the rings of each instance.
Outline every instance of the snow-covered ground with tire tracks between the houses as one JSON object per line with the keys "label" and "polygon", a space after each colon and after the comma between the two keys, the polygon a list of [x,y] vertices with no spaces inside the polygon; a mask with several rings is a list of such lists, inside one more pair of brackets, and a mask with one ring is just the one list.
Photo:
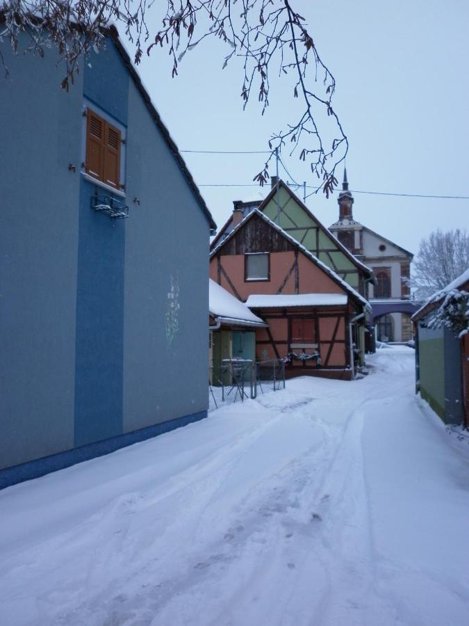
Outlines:
{"label": "snow-covered ground with tire tracks between the houses", "polygon": [[0,492],[0,623],[467,626],[469,445],[410,348]]}

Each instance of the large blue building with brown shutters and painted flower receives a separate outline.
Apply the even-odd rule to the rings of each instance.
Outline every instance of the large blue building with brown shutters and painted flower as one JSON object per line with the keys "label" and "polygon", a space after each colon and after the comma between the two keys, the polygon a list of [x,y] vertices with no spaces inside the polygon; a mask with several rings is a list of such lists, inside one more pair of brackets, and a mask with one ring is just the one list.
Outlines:
{"label": "large blue building with brown shutters and painted flower", "polygon": [[0,487],[206,416],[215,228],[115,29],[2,54]]}

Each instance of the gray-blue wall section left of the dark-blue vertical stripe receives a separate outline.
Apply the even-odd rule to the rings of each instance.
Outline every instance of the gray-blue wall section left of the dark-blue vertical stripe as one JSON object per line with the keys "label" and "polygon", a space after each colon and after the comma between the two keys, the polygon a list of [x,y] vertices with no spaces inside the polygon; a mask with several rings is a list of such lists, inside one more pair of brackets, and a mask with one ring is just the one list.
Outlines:
{"label": "gray-blue wall section left of the dark-blue vertical stripe", "polygon": [[2,53],[10,76],[0,72],[0,468],[74,443],[83,75],[66,93],[51,50]]}

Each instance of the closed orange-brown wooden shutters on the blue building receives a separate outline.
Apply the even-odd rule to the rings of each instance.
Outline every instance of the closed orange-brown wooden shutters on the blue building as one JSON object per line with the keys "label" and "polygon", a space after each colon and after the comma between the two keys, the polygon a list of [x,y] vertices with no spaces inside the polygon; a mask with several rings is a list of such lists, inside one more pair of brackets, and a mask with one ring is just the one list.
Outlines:
{"label": "closed orange-brown wooden shutters on the blue building", "polygon": [[119,189],[121,132],[90,109],[86,118],[85,172]]}

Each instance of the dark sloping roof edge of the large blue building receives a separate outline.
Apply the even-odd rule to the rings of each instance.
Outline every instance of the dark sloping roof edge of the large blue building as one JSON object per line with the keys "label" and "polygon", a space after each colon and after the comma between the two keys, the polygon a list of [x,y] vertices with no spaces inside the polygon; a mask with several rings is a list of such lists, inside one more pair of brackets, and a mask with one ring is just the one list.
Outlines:
{"label": "dark sloping roof edge of the large blue building", "polygon": [[106,30],[106,34],[108,34],[110,38],[113,40],[115,47],[120,53],[120,56],[122,56],[122,61],[124,61],[124,64],[126,65],[127,70],[129,70],[129,74],[131,75],[133,82],[135,83],[135,86],[140,91],[140,94],[142,95],[145,105],[147,106],[147,109],[149,110],[151,117],[154,119],[156,126],[158,127],[158,129],[160,129],[161,134],[163,135],[163,138],[165,139],[167,143],[167,147],[170,148],[170,151],[172,152],[174,159],[176,159],[176,162],[179,165],[179,168],[181,172],[183,173],[183,176],[186,178],[186,181],[188,182],[188,185],[190,186],[192,194],[194,195],[195,199],[199,203],[199,207],[202,209],[203,213],[205,214],[211,230],[215,230],[217,225],[215,224],[215,221],[213,220],[211,212],[208,210],[206,202],[204,198],[202,198],[199,188],[195,184],[195,181],[192,178],[192,174],[190,173],[190,171],[188,170],[188,167],[186,166],[186,162],[184,161],[183,157],[181,157],[181,152],[179,152],[179,148],[177,147],[174,139],[170,136],[170,132],[168,131],[167,127],[163,124],[163,120],[161,120],[160,114],[158,113],[158,111],[156,111],[156,108],[153,102],[151,102],[149,93],[143,86],[142,79],[140,78],[137,70],[135,70],[135,67],[133,67],[133,63],[131,61],[129,53],[126,51],[124,45],[122,44],[116,27],[109,26],[109,28]]}

